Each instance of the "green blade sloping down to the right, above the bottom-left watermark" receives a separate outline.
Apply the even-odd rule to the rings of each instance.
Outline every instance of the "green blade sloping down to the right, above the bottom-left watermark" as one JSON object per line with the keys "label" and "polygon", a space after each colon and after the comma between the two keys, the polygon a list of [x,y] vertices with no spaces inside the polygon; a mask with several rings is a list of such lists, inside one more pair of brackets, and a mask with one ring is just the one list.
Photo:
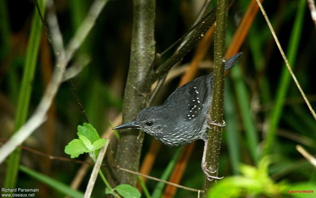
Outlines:
{"label": "green blade sloping down to the right, above the bottom-left watermark", "polygon": [[25,166],[20,166],[21,172],[31,176],[32,178],[39,180],[40,182],[52,187],[53,189],[74,198],[83,197],[83,193],[77,190],[74,190],[67,186],[66,184],[59,182],[53,178],[47,177],[46,175],[42,173],[38,173],[36,171],[33,171]]}

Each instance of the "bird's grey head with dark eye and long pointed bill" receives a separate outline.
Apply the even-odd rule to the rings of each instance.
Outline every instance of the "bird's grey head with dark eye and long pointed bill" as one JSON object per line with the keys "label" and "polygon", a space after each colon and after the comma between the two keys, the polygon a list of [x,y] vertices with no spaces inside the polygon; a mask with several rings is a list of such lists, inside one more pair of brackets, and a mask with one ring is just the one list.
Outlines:
{"label": "bird's grey head with dark eye and long pointed bill", "polygon": [[135,121],[114,127],[115,129],[123,128],[139,128],[140,130],[159,138],[164,132],[167,132],[167,124],[164,121],[170,120],[167,118],[166,107],[154,106],[141,110]]}

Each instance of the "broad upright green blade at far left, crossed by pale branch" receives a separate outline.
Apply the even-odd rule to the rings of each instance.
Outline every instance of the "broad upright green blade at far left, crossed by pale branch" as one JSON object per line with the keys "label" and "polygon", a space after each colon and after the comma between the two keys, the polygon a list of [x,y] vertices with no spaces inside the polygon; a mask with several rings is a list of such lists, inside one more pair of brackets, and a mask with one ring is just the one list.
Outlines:
{"label": "broad upright green blade at far left, crossed by pale branch", "polygon": [[[42,14],[45,12],[46,0],[40,0],[39,6]],[[30,103],[30,96],[32,92],[32,82],[34,79],[35,66],[37,61],[38,49],[42,35],[42,23],[36,10],[34,10],[31,34],[29,37],[26,58],[24,65],[24,73],[22,77],[22,85],[19,93],[19,100],[17,105],[17,112],[15,117],[14,131],[17,131],[26,121],[28,106]],[[10,156],[7,164],[7,172],[4,182],[5,188],[15,188],[17,174],[19,170],[19,163],[21,157],[21,149],[16,149]]]}

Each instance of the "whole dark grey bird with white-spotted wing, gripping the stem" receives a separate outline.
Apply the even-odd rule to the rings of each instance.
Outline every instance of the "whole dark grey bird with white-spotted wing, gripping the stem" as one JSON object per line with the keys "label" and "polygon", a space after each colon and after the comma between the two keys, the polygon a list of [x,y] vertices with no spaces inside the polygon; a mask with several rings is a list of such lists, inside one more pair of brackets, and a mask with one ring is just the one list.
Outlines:
{"label": "whole dark grey bird with white-spotted wing, gripping the stem", "polygon": [[[225,71],[241,58],[237,53],[226,60]],[[210,121],[209,109],[212,101],[213,72],[200,76],[177,88],[160,106],[141,110],[135,121],[114,127],[115,129],[139,128],[168,146],[184,146],[197,139],[204,140],[201,167],[209,180],[220,179],[206,167],[207,128],[210,125],[225,126]]]}

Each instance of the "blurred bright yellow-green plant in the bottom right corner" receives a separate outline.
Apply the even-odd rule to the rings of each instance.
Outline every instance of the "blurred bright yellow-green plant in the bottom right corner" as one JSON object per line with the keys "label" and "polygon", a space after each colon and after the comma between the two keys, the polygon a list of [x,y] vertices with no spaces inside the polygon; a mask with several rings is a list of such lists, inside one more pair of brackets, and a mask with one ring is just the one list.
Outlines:
{"label": "blurred bright yellow-green plant in the bottom right corner", "polygon": [[[289,190],[307,189],[315,190],[311,186],[311,182],[304,184],[286,184],[282,182],[274,182],[268,175],[268,167],[270,165],[269,157],[261,158],[258,167],[249,165],[240,165],[241,176],[227,177],[219,180],[209,192],[208,198],[213,197],[256,197],[256,195],[265,195],[268,197],[282,197],[284,194],[295,197],[309,197],[312,194],[290,194]],[[300,186],[298,188],[297,186]],[[302,186],[305,186],[304,188]]]}

